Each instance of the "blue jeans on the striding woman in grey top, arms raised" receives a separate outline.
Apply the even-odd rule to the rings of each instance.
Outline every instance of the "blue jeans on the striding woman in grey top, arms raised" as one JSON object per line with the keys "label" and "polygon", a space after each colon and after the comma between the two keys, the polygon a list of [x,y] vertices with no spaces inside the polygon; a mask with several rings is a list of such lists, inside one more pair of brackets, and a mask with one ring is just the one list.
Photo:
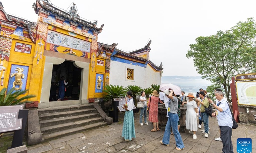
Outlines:
{"label": "blue jeans on the striding woman in grey top, arms raised", "polygon": [[180,132],[178,131],[178,121],[179,116],[178,114],[170,113],[168,112],[168,121],[165,126],[164,131],[164,137],[163,137],[163,143],[169,144],[170,143],[170,134],[171,134],[171,127],[172,127],[172,133],[174,134],[174,138],[176,141],[176,146],[180,149],[184,148],[183,141],[180,136]]}

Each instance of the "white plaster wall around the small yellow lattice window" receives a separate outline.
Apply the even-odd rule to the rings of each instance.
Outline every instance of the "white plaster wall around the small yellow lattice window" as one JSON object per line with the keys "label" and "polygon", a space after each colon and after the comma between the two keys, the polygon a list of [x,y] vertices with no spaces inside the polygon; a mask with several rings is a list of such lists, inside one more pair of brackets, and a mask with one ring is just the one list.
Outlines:
{"label": "white plaster wall around the small yellow lattice window", "polygon": [[[134,80],[126,80],[126,69],[133,69]],[[109,84],[122,85],[138,85],[141,88],[151,87],[151,84],[161,84],[160,72],[154,71],[150,66],[147,68],[126,64],[122,62],[110,61]]]}

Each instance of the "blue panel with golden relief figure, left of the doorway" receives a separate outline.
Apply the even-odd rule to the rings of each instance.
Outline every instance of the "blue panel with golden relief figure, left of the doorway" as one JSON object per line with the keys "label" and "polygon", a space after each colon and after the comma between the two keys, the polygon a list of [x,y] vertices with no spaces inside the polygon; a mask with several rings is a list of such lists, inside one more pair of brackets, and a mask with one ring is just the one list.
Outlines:
{"label": "blue panel with golden relief figure, left of the doorway", "polygon": [[7,87],[7,93],[13,88],[13,85],[17,90],[26,90],[28,80],[28,69],[28,66],[12,64]]}

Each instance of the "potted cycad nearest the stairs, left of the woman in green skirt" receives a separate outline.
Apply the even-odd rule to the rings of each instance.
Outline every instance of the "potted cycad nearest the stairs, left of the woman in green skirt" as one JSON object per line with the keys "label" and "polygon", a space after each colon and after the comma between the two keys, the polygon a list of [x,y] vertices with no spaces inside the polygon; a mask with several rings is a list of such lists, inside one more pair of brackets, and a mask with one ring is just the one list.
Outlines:
{"label": "potted cycad nearest the stairs, left of the woman in green skirt", "polygon": [[[105,89],[103,89],[103,92],[105,92],[104,102],[112,101],[112,106],[114,98],[121,98],[125,95],[124,87],[119,85],[106,85]],[[114,108],[108,110],[109,117],[113,117],[113,111]]]}

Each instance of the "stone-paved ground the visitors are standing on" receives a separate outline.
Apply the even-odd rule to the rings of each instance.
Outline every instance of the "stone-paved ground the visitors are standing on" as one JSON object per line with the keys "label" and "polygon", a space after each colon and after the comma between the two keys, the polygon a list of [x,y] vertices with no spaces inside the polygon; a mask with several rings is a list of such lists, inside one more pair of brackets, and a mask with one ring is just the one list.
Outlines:
{"label": "stone-paved ground the visitors are standing on", "polygon": [[[139,113],[135,113],[135,132],[136,138],[126,142],[122,135],[124,113],[119,113],[119,122],[102,128],[88,130],[83,133],[65,136],[49,142],[34,146],[28,146],[28,153],[112,153],[112,152],[137,152],[137,153],[178,153],[176,150],[174,136],[170,137],[170,145],[160,144],[164,130],[150,132],[153,125],[140,126]],[[237,138],[251,138],[252,152],[256,153],[256,128],[252,125],[238,123],[239,127],[233,130],[233,147],[236,152]],[[210,134],[208,138],[198,130],[197,139],[192,139],[188,133],[180,133],[185,145],[182,153],[220,153],[222,142],[215,141],[214,138],[220,136],[218,123],[215,118],[209,118]],[[203,126],[202,126],[203,128]]]}

